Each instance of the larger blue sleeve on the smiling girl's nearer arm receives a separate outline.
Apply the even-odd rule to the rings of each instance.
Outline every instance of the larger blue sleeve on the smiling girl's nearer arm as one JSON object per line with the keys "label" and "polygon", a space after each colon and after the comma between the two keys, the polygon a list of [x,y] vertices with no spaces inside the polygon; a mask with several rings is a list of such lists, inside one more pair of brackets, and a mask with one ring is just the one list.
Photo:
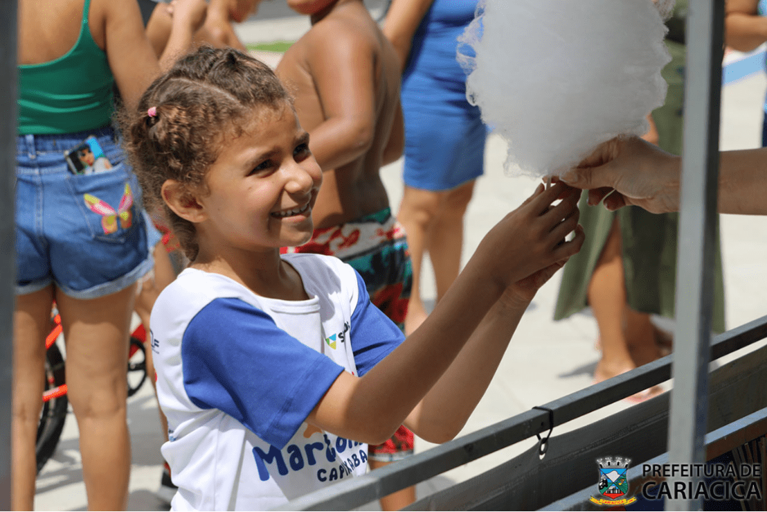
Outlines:
{"label": "larger blue sleeve on the smiling girl's nearer arm", "polygon": [[215,299],[181,342],[184,390],[282,448],[344,371],[241,299]]}

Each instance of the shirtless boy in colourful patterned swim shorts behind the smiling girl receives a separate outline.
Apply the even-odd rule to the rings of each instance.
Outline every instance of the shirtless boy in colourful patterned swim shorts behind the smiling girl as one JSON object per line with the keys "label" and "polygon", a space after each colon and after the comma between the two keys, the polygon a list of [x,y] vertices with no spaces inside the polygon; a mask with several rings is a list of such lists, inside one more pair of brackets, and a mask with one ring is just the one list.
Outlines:
{"label": "shirtless boy in colourful patterned swim shorts behind the smiling girl", "polygon": [[[390,213],[380,167],[400,157],[404,144],[400,61],[362,0],[288,0],[311,15],[309,30],[285,53],[279,78],[295,94],[301,127],[323,173],[314,205],[314,235],[287,252],[334,255],[360,273],[372,302],[403,329],[412,282],[402,227]],[[400,428],[370,448],[370,467],[413,451],[413,434]],[[415,499],[412,488],[384,510]]]}

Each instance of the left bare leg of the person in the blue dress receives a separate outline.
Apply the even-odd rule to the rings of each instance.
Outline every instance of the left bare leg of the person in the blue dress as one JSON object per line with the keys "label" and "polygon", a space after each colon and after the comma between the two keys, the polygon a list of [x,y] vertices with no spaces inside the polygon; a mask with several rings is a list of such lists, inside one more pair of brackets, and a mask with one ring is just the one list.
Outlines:
{"label": "left bare leg of the person in the blue dress", "polygon": [[413,289],[405,317],[405,334],[415,331],[426,319],[426,309],[421,300],[420,282],[426,236],[439,206],[439,194],[405,186],[397,220],[407,235],[407,247],[413,265]]}

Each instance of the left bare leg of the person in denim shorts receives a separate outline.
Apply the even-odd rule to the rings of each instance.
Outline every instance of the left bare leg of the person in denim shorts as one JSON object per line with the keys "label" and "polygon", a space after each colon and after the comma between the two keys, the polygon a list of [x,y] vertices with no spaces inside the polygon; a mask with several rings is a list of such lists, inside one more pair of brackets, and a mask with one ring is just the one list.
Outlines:
{"label": "left bare leg of the person in denim shorts", "polygon": [[45,336],[51,328],[53,286],[16,297],[13,314],[13,510],[35,504],[35,439],[45,378]]}

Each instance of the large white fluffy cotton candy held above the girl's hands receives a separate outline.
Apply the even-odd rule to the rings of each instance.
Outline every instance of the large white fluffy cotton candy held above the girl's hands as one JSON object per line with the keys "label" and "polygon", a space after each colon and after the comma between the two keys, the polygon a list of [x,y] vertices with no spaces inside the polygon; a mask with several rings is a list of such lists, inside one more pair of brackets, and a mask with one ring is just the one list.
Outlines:
{"label": "large white fluffy cotton candy held above the girl's hands", "polygon": [[[668,9],[673,0],[661,0]],[[506,170],[543,177],[647,132],[670,61],[653,0],[482,0],[459,61],[469,101],[509,143]]]}

